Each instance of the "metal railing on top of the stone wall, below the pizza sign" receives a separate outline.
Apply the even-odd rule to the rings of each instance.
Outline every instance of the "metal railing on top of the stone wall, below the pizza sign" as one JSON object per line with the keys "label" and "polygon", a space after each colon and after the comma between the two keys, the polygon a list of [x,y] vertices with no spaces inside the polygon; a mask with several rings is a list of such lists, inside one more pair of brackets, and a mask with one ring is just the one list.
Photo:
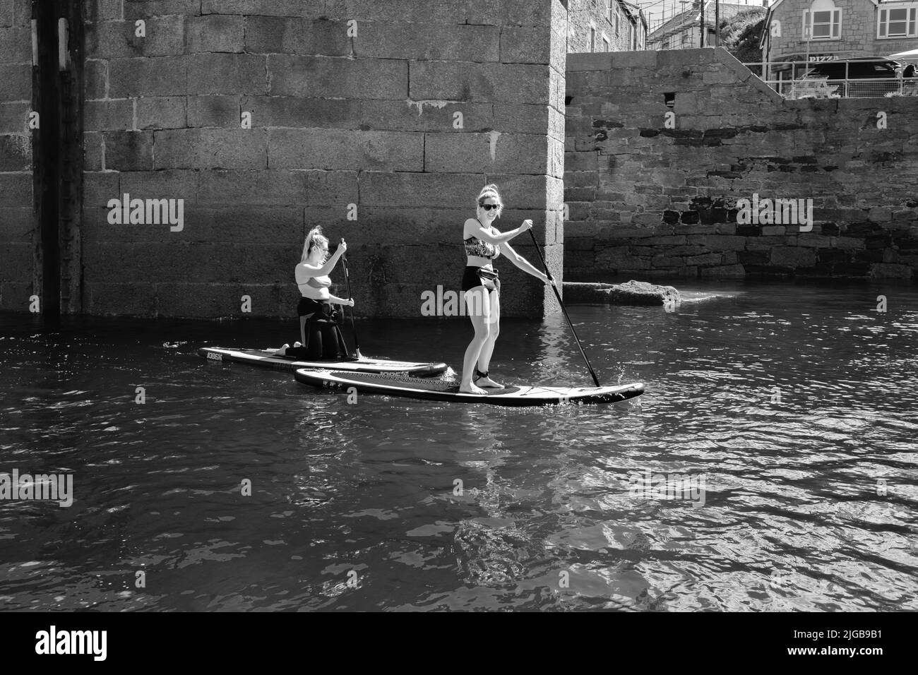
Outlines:
{"label": "metal railing on top of the stone wall, below the pizza sign", "polygon": [[[876,98],[883,96],[918,96],[918,77],[843,77],[828,75],[804,76],[820,62],[787,61],[745,63],[754,74],[785,98]],[[850,74],[851,64],[858,62],[838,60],[845,63],[845,74]],[[863,64],[863,62],[860,62]],[[773,79],[778,73],[790,77]]]}

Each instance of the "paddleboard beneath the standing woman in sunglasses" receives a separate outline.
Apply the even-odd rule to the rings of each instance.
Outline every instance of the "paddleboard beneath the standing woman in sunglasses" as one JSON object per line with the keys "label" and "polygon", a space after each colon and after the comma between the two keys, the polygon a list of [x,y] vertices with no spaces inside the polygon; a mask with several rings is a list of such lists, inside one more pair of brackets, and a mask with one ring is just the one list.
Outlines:
{"label": "paddleboard beneath the standing woman in sunglasses", "polygon": [[644,393],[636,382],[615,387],[505,387],[486,389],[487,395],[459,392],[459,383],[442,379],[346,373],[340,369],[298,369],[297,382],[318,388],[347,390],[366,394],[403,396],[410,399],[443,400],[451,403],[489,403],[501,406],[544,406],[564,403],[616,403]]}

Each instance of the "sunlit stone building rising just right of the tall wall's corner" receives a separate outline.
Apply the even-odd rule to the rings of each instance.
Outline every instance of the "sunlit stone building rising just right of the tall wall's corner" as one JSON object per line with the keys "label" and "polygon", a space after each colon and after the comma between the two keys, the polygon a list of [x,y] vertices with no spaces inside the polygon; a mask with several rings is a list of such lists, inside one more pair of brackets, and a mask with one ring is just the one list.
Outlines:
{"label": "sunlit stone building rising just right of the tall wall's corner", "polygon": [[644,11],[623,0],[568,0],[567,52],[647,49]]}

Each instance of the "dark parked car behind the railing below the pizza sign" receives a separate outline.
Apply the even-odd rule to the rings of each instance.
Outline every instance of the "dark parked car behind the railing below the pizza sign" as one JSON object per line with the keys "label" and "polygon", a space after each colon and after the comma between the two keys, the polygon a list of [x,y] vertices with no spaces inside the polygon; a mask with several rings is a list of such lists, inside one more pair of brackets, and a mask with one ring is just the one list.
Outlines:
{"label": "dark parked car behind the railing below the pizza sign", "polygon": [[886,96],[901,90],[899,68],[900,62],[882,57],[814,63],[794,83],[792,97]]}

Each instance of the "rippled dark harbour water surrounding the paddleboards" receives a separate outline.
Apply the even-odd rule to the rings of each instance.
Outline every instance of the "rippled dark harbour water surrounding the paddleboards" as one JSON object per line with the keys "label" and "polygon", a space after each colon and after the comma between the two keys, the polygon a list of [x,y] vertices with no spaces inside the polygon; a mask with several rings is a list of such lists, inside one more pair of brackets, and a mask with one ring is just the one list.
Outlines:
{"label": "rippled dark harbour water surrounding the paddleboards", "polygon": [[[2,315],[0,472],[73,472],[75,501],[0,501],[0,599],[918,609],[918,292],[718,288],[733,297],[672,313],[571,308],[600,379],[647,391],[538,410],[349,405],[195,355],[274,346],[293,324],[84,320],[45,335]],[[471,332],[465,319],[359,328],[364,354],[457,368]],[[491,371],[588,383],[560,315],[504,321]],[[703,479],[703,500],[633,494],[648,471]]]}

